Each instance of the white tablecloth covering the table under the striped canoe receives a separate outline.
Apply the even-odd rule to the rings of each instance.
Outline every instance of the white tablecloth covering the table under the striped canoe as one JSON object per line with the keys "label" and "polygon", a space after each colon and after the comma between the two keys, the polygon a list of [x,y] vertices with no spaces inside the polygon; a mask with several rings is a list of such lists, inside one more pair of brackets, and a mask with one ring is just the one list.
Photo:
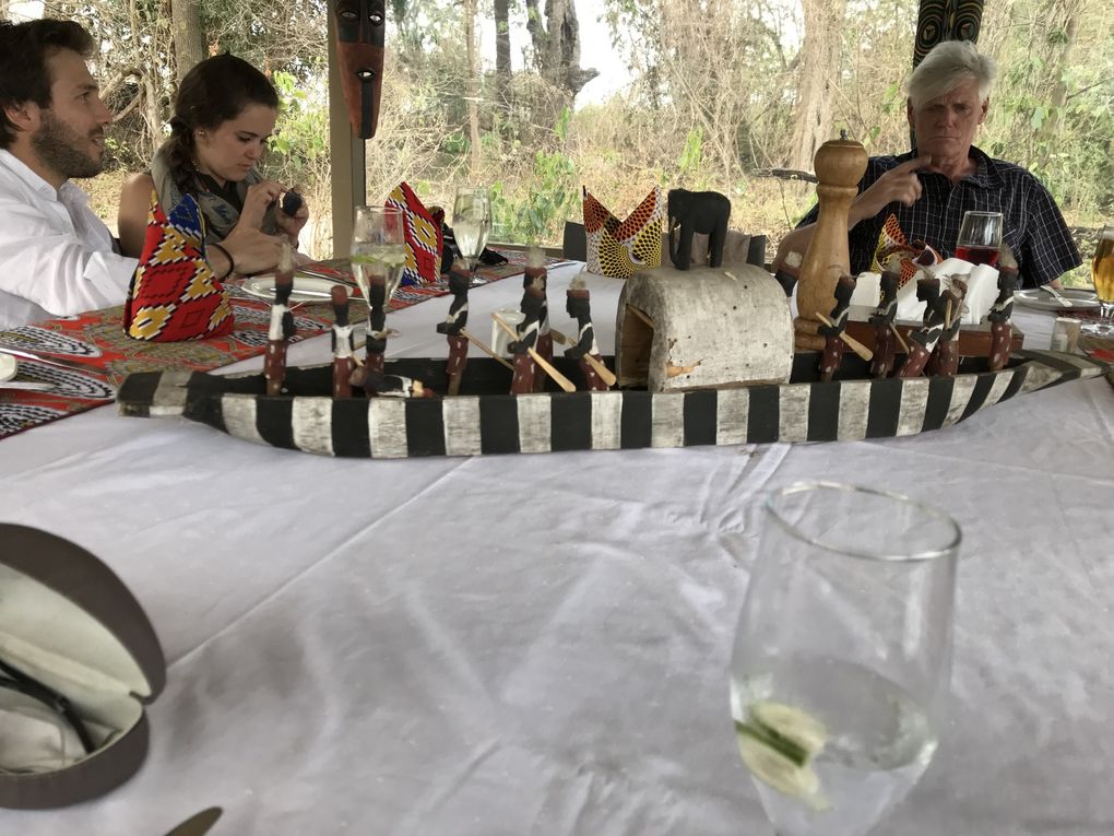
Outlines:
{"label": "white tablecloth covering the table under the striped canoe", "polygon": [[[619,283],[590,286],[610,346]],[[519,293],[475,290],[473,330]],[[392,314],[391,351],[442,354],[447,307]],[[1052,314],[1016,321],[1047,347]],[[964,529],[950,720],[878,833],[1108,836],[1112,416],[1097,379],[822,445],[372,461],[113,407],[14,436],[0,519],[107,562],[168,674],[131,780],[0,824],[158,836],[218,805],[214,834],[769,834],[727,711],[745,509],[824,478]]]}

